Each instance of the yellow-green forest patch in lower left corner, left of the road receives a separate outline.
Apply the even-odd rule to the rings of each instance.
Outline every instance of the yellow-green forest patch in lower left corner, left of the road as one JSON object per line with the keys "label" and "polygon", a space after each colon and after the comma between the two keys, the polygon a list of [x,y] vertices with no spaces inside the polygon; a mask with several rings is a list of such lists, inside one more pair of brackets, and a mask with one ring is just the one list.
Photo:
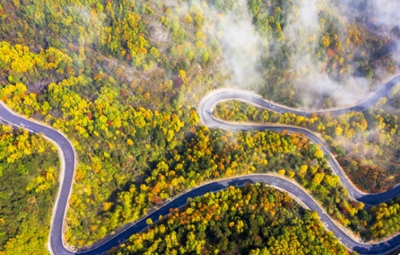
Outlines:
{"label": "yellow-green forest patch in lower left corner, left of the road", "polygon": [[55,146],[0,126],[0,254],[45,254],[57,192]]}

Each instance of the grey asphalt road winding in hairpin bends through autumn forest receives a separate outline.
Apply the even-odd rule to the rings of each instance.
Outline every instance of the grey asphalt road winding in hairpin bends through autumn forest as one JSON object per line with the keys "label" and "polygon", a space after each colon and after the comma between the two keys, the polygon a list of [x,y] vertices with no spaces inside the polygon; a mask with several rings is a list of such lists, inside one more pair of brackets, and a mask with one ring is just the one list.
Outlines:
{"label": "grey asphalt road winding in hairpin bends through autumn forest", "polygon": [[[362,101],[361,103],[354,105],[349,108],[335,109],[335,110],[321,110],[318,112],[330,112],[331,115],[343,114],[351,110],[365,110],[370,105],[374,104],[381,97],[387,95],[396,84],[400,83],[400,75],[393,77],[387,84],[384,84],[377,92],[375,92],[370,98]],[[222,121],[221,119],[215,119],[213,117],[213,107],[221,102],[229,99],[237,99],[241,101],[248,101],[249,103],[255,104],[259,107],[274,110],[278,113],[292,112],[297,115],[310,116],[313,112],[294,110],[279,106],[271,101],[265,101],[260,96],[253,92],[239,91],[239,90],[218,90],[211,92],[204,100],[201,101],[198,113],[200,119],[204,125],[210,128],[222,128],[232,131],[240,130],[272,130],[272,131],[283,131],[288,130],[290,133],[304,133],[311,142],[321,145],[321,149],[324,154],[330,155],[329,165],[332,167],[335,174],[340,177],[343,186],[349,191],[349,195],[358,201],[362,201],[365,204],[375,205],[386,201],[389,198],[394,198],[400,194],[400,186],[396,186],[394,189],[389,189],[386,192],[378,194],[365,194],[360,190],[356,189],[350,180],[347,179],[340,165],[335,161],[335,157],[329,151],[324,140],[320,138],[316,133],[306,128],[297,128],[292,126],[284,125],[256,125],[256,124],[239,124]],[[133,233],[138,233],[146,229],[146,219],[152,218],[153,222],[157,222],[159,215],[168,215],[170,208],[181,207],[187,202],[187,198],[196,196],[202,196],[206,192],[216,192],[218,190],[225,189],[226,187],[243,186],[246,182],[257,183],[265,182],[268,185],[273,185],[278,189],[283,189],[291,194],[293,198],[298,200],[305,207],[317,211],[317,214],[321,218],[321,221],[326,225],[326,228],[335,233],[335,236],[352,251],[357,251],[361,254],[387,254],[390,251],[395,250],[400,246],[400,234],[395,237],[374,244],[365,244],[357,242],[352,239],[349,235],[343,232],[341,226],[335,224],[335,222],[323,211],[321,207],[317,205],[313,198],[311,198],[303,189],[297,184],[283,178],[276,177],[268,174],[249,174],[246,176],[240,176],[225,180],[214,180],[204,185],[201,185],[195,189],[191,189],[186,193],[174,198],[170,202],[166,203],[163,207],[158,208],[151,215],[146,215],[140,221],[136,222],[132,226],[126,228],[121,233],[117,233],[115,236],[101,242],[96,247],[91,248],[87,251],[69,251],[65,248],[64,243],[64,231],[63,224],[65,222],[65,213],[67,209],[68,199],[71,193],[71,188],[74,180],[74,169],[76,166],[76,155],[74,153],[74,147],[71,142],[60,132],[54,128],[49,128],[46,125],[35,122],[34,120],[26,119],[18,114],[14,113],[0,103],[0,119],[4,122],[9,123],[13,126],[22,127],[30,130],[30,132],[41,133],[47,137],[51,142],[57,145],[60,152],[62,171],[61,171],[61,185],[57,194],[57,200],[53,211],[51,220],[48,250],[53,254],[101,254],[109,251],[114,246],[117,246],[120,242],[125,242],[127,238]]]}

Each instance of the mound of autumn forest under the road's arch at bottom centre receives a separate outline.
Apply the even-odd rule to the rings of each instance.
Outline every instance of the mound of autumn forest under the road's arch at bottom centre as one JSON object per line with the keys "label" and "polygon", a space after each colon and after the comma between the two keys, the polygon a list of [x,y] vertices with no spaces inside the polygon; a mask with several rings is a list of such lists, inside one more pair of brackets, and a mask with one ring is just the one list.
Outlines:
{"label": "mound of autumn forest under the road's arch at bottom centre", "polygon": [[111,254],[349,254],[287,193],[248,184],[207,193]]}

